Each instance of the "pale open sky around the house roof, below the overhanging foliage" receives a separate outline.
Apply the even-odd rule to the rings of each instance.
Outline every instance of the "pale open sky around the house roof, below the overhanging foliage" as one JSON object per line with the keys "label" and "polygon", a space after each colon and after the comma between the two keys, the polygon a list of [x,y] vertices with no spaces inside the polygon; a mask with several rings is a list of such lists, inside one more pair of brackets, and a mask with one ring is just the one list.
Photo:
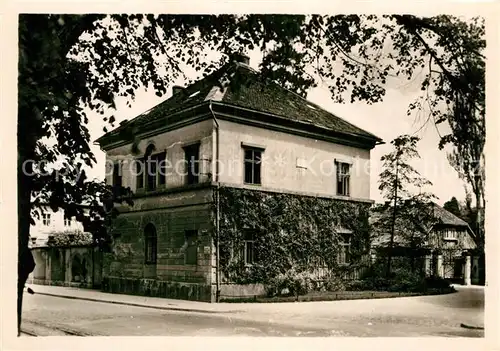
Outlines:
{"label": "pale open sky around the house roof, below the overhanging foliage", "polygon": [[[253,51],[249,53],[250,65],[258,69],[260,63],[260,53]],[[196,77],[195,71],[185,72],[188,78]],[[175,85],[185,86],[186,82],[182,79],[175,82]],[[332,112],[345,119],[346,121],[371,132],[382,138],[384,145],[376,146],[371,151],[371,173],[370,173],[370,197],[376,202],[384,201],[378,190],[378,175],[382,170],[380,158],[391,151],[390,141],[402,134],[413,134],[418,132],[421,140],[418,144],[418,151],[421,158],[412,162],[420,174],[430,180],[433,185],[428,188],[430,192],[437,196],[436,202],[443,205],[444,202],[456,197],[459,201],[465,199],[463,181],[458,178],[456,171],[449,165],[446,150],[439,150],[439,134],[434,124],[429,123],[425,127],[423,121],[416,119],[415,116],[407,116],[408,105],[415,100],[420,93],[419,81],[415,80],[408,83],[406,80],[393,81],[391,87],[388,87],[383,102],[369,105],[365,102],[344,104],[334,103],[331,94],[326,86],[318,86],[308,93],[308,100],[318,104],[325,110]],[[135,101],[132,106],[126,106],[124,99],[117,100],[116,111],[113,115],[116,118],[115,126],[125,119],[132,119],[142,112],[149,110],[171,96],[171,92],[159,98],[154,91],[140,89],[136,93]],[[91,111],[89,116],[89,131],[91,140],[95,141],[104,134],[102,128],[106,123],[102,116]],[[108,126],[109,127],[109,126]],[[439,126],[439,132],[446,134],[446,126]],[[108,128],[109,129],[109,128]],[[97,164],[88,172],[91,178],[103,179],[105,173],[105,155],[99,149],[99,146],[93,145],[92,150],[96,156]]]}

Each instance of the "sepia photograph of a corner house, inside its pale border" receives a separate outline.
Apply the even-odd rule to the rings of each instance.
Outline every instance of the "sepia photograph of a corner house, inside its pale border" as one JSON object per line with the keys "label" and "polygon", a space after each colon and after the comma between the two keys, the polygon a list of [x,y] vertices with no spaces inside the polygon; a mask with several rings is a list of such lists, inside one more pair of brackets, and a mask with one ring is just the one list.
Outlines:
{"label": "sepia photograph of a corner house, inside its pale border", "polygon": [[485,16],[137,10],[16,14],[9,337],[485,338]]}

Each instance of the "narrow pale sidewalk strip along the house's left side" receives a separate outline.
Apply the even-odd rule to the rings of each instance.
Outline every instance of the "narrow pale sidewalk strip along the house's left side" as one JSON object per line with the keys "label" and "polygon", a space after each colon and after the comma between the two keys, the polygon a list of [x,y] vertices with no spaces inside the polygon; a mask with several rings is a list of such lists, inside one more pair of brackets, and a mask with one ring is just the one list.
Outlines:
{"label": "narrow pale sidewalk strip along the house's left side", "polygon": [[136,295],[111,294],[98,290],[79,289],[52,285],[29,285],[38,295],[55,296],[67,299],[79,299],[94,302],[105,302],[120,305],[147,307],[171,311],[198,312],[198,313],[234,313],[233,305],[215,304],[208,302],[166,299]]}

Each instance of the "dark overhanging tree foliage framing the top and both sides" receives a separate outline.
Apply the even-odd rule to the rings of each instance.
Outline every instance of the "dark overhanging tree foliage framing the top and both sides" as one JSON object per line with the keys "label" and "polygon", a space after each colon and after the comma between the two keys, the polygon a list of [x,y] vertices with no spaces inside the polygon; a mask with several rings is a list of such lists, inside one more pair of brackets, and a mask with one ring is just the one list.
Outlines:
{"label": "dark overhanging tree foliage framing the top and both sides", "polygon": [[[426,102],[429,119],[452,126],[443,144],[452,143],[472,162],[482,155],[484,136],[483,37],[482,21],[451,16],[21,15],[19,267],[29,219],[42,202],[87,223],[98,241],[109,241],[99,198],[113,193],[82,171],[95,163],[85,107],[113,127],[115,117],[107,111],[116,98],[133,100],[140,87],[162,96],[186,65],[207,74],[227,63],[230,54],[255,48],[263,53],[263,79],[302,95],[322,82],[338,102],[346,97],[380,102],[391,79],[413,79],[420,68],[426,72],[423,97],[410,110]],[[210,50],[221,55],[209,61]],[[122,133],[133,140],[134,125]],[[472,135],[479,136],[474,147]],[[484,208],[482,159],[471,178],[478,209]],[[61,165],[50,169],[42,160]],[[79,209],[82,202],[91,205],[90,214]],[[23,285],[18,284],[21,303]]]}

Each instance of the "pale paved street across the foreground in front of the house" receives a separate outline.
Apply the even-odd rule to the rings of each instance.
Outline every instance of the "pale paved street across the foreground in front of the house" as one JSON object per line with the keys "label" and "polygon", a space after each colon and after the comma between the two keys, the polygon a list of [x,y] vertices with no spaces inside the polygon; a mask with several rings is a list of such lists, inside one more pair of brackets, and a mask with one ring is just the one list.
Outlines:
{"label": "pale paved street across the foreground in front of the house", "polygon": [[218,304],[215,313],[41,294],[26,294],[25,304],[24,329],[40,336],[484,336],[484,289],[479,287],[440,296]]}

